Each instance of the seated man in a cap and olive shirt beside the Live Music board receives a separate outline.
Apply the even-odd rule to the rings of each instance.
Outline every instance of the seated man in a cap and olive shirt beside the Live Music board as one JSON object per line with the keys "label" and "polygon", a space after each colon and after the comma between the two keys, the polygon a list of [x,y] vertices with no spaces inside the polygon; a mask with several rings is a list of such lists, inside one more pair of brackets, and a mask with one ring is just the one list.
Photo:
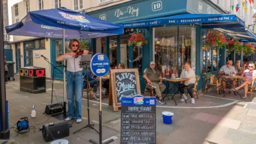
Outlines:
{"label": "seated man in a cap and olive shirt beside the Live Music board", "polygon": [[156,69],[156,64],[154,61],[150,62],[150,66],[144,70],[143,78],[146,79],[147,84],[155,87],[156,91],[156,100],[159,103],[166,104],[166,102],[162,98],[162,93],[164,92],[166,86],[163,84],[162,80],[162,71]]}

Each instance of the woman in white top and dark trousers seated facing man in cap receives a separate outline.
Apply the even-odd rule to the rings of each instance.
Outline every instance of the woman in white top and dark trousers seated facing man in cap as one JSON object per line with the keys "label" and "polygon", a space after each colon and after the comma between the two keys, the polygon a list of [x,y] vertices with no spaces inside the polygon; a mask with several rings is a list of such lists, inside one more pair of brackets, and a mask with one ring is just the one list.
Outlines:
{"label": "woman in white top and dark trousers seated facing man in cap", "polygon": [[181,71],[181,75],[180,78],[188,78],[188,81],[185,81],[184,83],[180,82],[180,92],[183,96],[183,98],[181,98],[181,101],[185,101],[185,99],[187,100],[188,97],[186,96],[186,94],[184,93],[184,88],[187,87],[188,93],[191,97],[191,104],[195,104],[195,99],[193,97],[193,88],[195,87],[195,82],[196,82],[196,74],[195,71],[193,69],[190,68],[190,63],[186,62],[184,65],[184,69]]}

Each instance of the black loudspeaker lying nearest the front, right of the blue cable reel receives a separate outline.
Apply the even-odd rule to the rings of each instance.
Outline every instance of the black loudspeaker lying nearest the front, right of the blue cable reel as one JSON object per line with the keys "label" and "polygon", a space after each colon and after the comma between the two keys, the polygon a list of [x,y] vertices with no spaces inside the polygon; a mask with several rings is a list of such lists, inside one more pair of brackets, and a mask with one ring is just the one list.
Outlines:
{"label": "black loudspeaker lying nearest the front, right of the blue cable reel", "polygon": [[44,124],[42,128],[43,138],[46,142],[69,136],[69,123],[66,121]]}

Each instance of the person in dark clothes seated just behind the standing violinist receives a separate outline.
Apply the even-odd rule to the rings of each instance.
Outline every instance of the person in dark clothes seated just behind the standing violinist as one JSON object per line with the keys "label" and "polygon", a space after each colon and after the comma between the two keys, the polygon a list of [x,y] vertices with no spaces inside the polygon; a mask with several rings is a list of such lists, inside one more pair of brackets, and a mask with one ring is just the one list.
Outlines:
{"label": "person in dark clothes seated just behind the standing violinist", "polygon": [[[91,73],[90,70],[85,71],[84,80],[87,80],[87,73],[88,73],[88,81],[90,83],[90,86],[93,87],[93,100],[98,101],[99,99],[96,98],[96,92],[97,92],[97,89],[99,87],[99,82],[97,81],[97,79],[95,79],[92,76],[92,73]],[[83,88],[87,88],[87,82],[86,81],[84,81]]]}

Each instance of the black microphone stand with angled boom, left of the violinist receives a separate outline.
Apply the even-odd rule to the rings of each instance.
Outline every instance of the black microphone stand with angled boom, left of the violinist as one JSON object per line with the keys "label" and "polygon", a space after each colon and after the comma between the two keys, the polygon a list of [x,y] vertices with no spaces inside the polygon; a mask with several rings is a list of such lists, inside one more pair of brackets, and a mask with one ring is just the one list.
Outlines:
{"label": "black microphone stand with angled boom, left of the violinist", "polygon": [[[43,55],[41,55],[42,57],[43,57]],[[45,61],[47,61],[51,66],[52,66],[52,68],[53,68],[53,70],[52,70],[52,100],[53,100],[53,81],[54,81],[54,76],[53,76],[53,74],[54,74],[54,69],[57,69],[57,70],[59,70],[58,68],[56,68],[55,66],[53,66],[52,65],[52,63],[47,59],[47,58],[45,58],[45,57],[43,57],[44,58],[44,60]],[[59,72],[61,73],[61,74],[63,74],[62,73],[62,71],[60,71],[59,70]],[[52,100],[51,100],[51,103],[52,103]],[[63,107],[62,107],[62,109],[63,109],[63,115],[52,115],[53,117],[55,117],[55,118],[57,118],[57,119],[65,119],[66,117],[67,117],[67,110],[66,110],[66,101],[63,101]]]}

